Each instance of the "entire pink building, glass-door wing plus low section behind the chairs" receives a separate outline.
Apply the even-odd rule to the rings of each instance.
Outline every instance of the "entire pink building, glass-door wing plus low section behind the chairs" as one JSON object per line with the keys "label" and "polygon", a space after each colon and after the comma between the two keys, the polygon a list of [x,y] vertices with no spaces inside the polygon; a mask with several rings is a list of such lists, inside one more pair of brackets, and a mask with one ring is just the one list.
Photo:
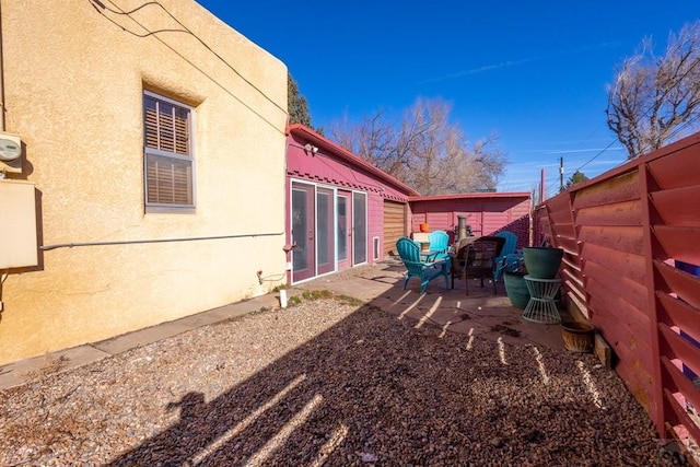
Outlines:
{"label": "entire pink building, glass-door wing plus low section behind the chairs", "polygon": [[459,215],[487,235],[512,230],[528,243],[528,192],[421,197],[302,125],[288,128],[288,280],[298,283],[394,253],[418,224],[452,233]]}

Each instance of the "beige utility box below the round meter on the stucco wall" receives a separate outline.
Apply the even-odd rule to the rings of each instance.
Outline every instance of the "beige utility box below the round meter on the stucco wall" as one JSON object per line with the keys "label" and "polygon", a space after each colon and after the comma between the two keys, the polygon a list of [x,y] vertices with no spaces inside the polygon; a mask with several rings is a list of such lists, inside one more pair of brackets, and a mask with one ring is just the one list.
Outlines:
{"label": "beige utility box below the round meter on the stucco wall", "polygon": [[0,270],[37,264],[34,184],[0,179]]}

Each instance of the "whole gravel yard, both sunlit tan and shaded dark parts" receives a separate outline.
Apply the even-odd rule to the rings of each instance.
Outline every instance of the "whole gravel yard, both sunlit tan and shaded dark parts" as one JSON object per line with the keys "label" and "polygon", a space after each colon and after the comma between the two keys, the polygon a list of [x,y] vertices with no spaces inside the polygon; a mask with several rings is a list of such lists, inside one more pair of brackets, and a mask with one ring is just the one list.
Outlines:
{"label": "whole gravel yard, both sunlit tan and shaded dark parts", "polygon": [[649,466],[650,419],[591,354],[324,297],[0,393],[0,465]]}

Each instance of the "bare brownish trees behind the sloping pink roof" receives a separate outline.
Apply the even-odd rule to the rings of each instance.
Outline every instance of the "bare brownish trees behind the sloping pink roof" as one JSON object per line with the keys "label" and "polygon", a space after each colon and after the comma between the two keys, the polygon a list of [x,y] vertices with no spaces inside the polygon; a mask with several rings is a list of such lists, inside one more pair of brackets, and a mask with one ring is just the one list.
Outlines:
{"label": "bare brownish trees behind the sloping pink roof", "polygon": [[494,136],[469,147],[451,106],[419,98],[398,121],[384,110],[359,125],[331,125],[336,142],[423,195],[495,190],[505,157]]}

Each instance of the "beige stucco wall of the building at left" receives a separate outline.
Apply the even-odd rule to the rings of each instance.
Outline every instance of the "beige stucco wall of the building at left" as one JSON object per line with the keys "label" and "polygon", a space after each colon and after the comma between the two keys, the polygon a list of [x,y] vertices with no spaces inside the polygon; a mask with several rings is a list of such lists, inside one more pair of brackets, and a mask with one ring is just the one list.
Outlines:
{"label": "beige stucco wall of the building at left", "polygon": [[[285,280],[287,68],[194,1],[160,3],[228,63],[192,34],[137,37],[109,21],[141,35],[183,28],[156,4],[125,15],[85,0],[2,0],[5,130],[26,145],[24,173],[9,178],[36,185],[37,243],[272,235],[44,250],[36,268],[0,271],[0,364]],[[144,89],[195,108],[194,213],[145,213]],[[277,281],[260,285],[257,270]]]}

